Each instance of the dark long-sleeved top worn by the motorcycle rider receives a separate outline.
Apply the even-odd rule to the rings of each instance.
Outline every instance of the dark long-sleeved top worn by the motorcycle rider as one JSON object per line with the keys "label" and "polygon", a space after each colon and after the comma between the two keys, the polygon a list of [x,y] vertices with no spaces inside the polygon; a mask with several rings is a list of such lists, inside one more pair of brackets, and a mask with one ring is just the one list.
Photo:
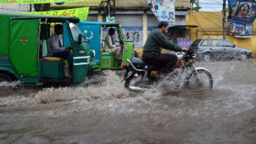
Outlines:
{"label": "dark long-sleeved top worn by the motorcycle rider", "polygon": [[151,31],[151,33],[147,36],[147,41],[144,46],[144,52],[159,52],[161,53],[161,48],[170,49],[174,51],[182,51],[182,49],[169,41],[163,32],[159,29]]}

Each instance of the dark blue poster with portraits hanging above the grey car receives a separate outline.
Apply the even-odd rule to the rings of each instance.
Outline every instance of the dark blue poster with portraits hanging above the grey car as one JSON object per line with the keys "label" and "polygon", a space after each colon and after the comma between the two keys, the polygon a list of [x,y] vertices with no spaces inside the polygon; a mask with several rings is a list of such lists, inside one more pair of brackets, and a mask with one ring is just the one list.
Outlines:
{"label": "dark blue poster with portraits hanging above the grey car", "polygon": [[255,0],[229,0],[228,6],[230,35],[240,38],[252,37],[256,16]]}

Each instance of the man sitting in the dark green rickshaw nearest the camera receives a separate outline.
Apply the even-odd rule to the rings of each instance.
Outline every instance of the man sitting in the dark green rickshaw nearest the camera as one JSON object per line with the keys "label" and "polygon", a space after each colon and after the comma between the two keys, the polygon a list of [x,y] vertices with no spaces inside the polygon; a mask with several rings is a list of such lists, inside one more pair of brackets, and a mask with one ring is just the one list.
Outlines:
{"label": "man sitting in the dark green rickshaw nearest the camera", "polygon": [[51,35],[47,40],[48,46],[48,55],[49,57],[56,58],[66,58],[68,63],[69,74],[72,76],[72,53],[68,49],[72,49],[72,46],[68,46],[63,48],[60,39],[58,39],[58,35],[63,34],[63,26],[55,25],[54,26],[54,35]]}

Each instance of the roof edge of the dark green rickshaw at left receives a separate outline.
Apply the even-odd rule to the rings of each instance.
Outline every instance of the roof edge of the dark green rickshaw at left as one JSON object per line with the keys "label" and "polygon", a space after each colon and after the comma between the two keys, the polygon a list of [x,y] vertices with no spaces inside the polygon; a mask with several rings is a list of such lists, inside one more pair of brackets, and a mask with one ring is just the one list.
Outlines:
{"label": "roof edge of the dark green rickshaw at left", "polygon": [[78,23],[80,20],[77,17],[68,16],[48,16],[48,15],[35,15],[35,14],[21,14],[21,13],[7,13],[0,12],[0,16],[12,16],[12,19],[41,19],[41,21],[47,22],[65,22],[66,20],[70,22]]}

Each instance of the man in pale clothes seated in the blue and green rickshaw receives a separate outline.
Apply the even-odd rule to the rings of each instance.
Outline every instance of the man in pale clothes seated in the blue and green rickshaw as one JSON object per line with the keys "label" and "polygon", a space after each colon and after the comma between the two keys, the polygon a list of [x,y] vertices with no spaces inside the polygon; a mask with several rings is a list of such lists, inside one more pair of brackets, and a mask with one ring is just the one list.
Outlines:
{"label": "man in pale clothes seated in the blue and green rickshaw", "polygon": [[122,58],[122,46],[114,45],[113,35],[114,28],[109,28],[109,35],[105,38],[105,51],[114,54],[114,58],[119,59],[120,61]]}

